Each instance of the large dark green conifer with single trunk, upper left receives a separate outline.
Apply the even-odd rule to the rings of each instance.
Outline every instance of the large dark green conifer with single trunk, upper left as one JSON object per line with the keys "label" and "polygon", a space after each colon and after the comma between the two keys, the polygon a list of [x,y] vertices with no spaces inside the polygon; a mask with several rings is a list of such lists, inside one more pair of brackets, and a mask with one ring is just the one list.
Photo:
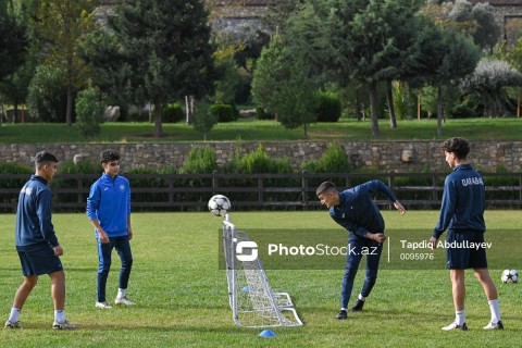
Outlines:
{"label": "large dark green conifer with single trunk, upper left", "polygon": [[[130,0],[115,8],[109,17],[110,35],[98,33],[97,42],[107,46],[84,49],[87,59],[104,70],[109,92],[115,99],[151,102],[154,137],[162,136],[164,103],[183,96],[204,96],[213,88],[213,45],[208,12],[201,0]],[[89,41],[92,44],[92,41]],[[107,69],[98,64],[115,53]],[[105,87],[107,88],[107,87]]]}

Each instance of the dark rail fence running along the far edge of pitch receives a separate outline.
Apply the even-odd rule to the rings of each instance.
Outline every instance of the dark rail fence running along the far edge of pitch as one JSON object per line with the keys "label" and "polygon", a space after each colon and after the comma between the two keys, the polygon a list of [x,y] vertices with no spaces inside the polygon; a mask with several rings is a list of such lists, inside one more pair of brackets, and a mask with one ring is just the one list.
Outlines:
{"label": "dark rail fence running along the far edge of pitch", "polygon": [[[238,210],[314,210],[315,188],[323,181],[339,189],[372,178],[385,182],[408,209],[437,209],[447,173],[373,174],[124,174],[130,182],[135,211],[204,211],[215,194]],[[522,206],[522,173],[482,173],[487,208]],[[99,174],[59,174],[51,182],[54,211],[84,211],[90,185]],[[26,174],[0,174],[0,211],[14,212]],[[389,202],[378,196],[384,208]]]}

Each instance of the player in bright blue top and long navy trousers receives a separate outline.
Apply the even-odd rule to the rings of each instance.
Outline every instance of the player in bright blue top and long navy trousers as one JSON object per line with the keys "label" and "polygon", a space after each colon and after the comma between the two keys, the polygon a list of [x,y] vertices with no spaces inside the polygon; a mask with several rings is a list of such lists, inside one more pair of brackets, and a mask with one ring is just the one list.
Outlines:
{"label": "player in bright blue top and long navy trousers", "polygon": [[87,198],[87,216],[95,226],[98,241],[97,308],[111,308],[105,299],[105,286],[111,269],[112,249],[116,249],[122,261],[119,277],[119,293],[115,304],[134,304],[126,297],[126,289],[133,266],[129,239],[130,227],[130,185],[119,175],[120,154],[113,150],[101,152],[103,174],[90,187]]}

